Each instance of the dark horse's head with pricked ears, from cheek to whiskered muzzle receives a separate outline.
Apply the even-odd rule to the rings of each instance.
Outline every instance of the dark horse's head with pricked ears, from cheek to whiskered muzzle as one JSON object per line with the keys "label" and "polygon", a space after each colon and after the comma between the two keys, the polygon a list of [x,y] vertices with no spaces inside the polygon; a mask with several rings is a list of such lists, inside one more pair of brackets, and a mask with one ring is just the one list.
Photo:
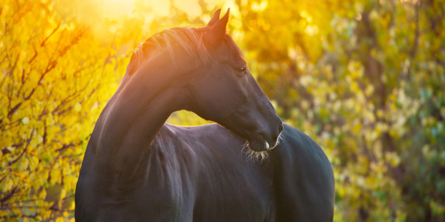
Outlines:
{"label": "dark horse's head with pricked ears, from cheek to whiskered muzzle", "polygon": [[211,59],[190,84],[188,109],[244,137],[254,151],[271,150],[283,124],[226,33],[229,10],[223,18],[219,15],[217,10],[207,27],[198,29]]}

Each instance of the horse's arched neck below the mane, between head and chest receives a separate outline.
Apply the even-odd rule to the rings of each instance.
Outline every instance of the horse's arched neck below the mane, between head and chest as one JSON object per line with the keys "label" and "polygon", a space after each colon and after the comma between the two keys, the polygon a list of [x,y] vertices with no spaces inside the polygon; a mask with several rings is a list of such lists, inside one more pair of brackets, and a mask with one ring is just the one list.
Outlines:
{"label": "horse's arched neck below the mane, between head and chest", "polygon": [[90,143],[106,171],[136,174],[168,116],[181,109],[187,90],[171,87],[178,69],[165,56],[150,59],[128,77],[101,113]]}

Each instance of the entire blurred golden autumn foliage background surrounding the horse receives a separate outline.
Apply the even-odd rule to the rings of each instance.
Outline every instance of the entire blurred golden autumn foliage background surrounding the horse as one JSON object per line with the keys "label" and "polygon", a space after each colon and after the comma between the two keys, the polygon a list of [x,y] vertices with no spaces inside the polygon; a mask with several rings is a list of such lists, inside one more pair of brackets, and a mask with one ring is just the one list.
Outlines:
{"label": "entire blurred golden autumn foliage background surrounding the horse", "polygon": [[335,221],[445,221],[444,0],[0,1],[0,221],[73,220],[86,144],[133,50],[228,7],[277,113],[329,156]]}

